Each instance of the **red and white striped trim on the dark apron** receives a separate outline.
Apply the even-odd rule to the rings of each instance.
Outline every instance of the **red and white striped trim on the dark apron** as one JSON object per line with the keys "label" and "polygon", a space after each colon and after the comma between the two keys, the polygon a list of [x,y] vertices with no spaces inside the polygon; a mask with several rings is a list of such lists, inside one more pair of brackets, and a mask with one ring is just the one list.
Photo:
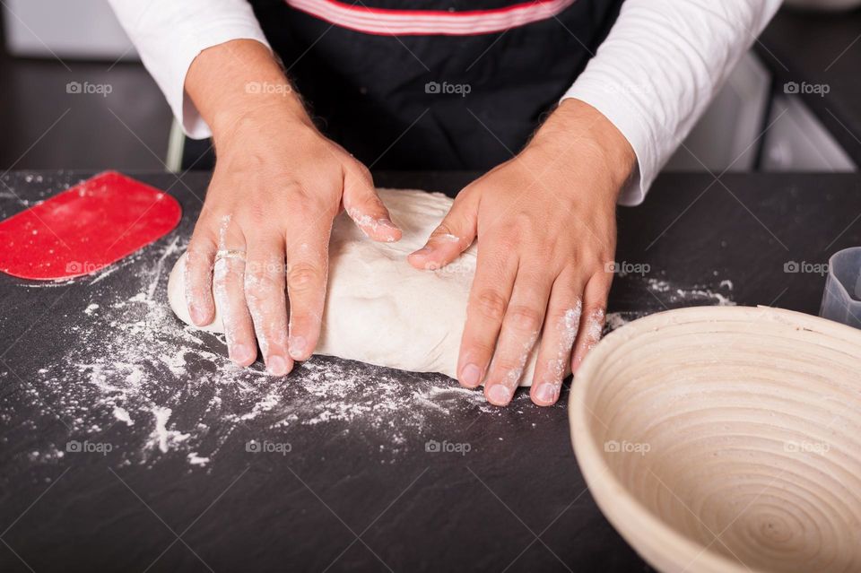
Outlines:
{"label": "red and white striped trim on the dark apron", "polygon": [[[491,34],[552,18],[576,0],[535,0],[492,10],[392,10],[337,0],[284,0],[336,26],[379,36]],[[357,0],[361,3],[361,0]]]}

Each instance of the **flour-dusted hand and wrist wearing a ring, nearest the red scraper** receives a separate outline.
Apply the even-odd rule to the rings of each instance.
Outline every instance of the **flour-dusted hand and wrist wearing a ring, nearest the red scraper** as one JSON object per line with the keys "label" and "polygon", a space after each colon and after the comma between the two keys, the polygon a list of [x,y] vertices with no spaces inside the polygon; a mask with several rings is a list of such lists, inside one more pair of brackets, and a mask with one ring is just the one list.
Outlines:
{"label": "flour-dusted hand and wrist wearing a ring, nearest the red scraper", "polygon": [[[317,131],[268,50],[239,41],[231,52],[206,50],[187,80],[218,161],[188,246],[186,298],[205,326],[214,292],[230,359],[251,364],[257,337],[269,373],[283,376],[317,345],[335,215],[344,208],[371,239],[401,232],[369,170]],[[243,89],[248,82],[257,88]],[[217,251],[236,256],[214,260]]]}

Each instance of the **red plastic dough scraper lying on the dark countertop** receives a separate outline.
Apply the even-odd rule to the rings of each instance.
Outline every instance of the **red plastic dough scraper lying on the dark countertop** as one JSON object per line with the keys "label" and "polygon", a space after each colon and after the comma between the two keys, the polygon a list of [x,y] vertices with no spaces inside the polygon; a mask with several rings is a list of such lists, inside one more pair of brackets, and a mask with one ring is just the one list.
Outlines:
{"label": "red plastic dough scraper lying on the dark countertop", "polygon": [[177,200],[106,171],[0,221],[0,271],[50,281],[99,271],[177,226]]}

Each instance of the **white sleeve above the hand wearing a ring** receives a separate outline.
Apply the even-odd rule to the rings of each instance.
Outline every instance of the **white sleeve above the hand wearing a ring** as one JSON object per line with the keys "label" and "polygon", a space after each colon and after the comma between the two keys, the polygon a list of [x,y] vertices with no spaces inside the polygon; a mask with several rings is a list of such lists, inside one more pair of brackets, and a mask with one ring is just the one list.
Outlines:
{"label": "white sleeve above the hand wearing a ring", "polygon": [[246,0],[109,2],[185,133],[195,139],[212,135],[187,97],[188,67],[204,49],[231,39],[255,39],[269,47],[250,4]]}

